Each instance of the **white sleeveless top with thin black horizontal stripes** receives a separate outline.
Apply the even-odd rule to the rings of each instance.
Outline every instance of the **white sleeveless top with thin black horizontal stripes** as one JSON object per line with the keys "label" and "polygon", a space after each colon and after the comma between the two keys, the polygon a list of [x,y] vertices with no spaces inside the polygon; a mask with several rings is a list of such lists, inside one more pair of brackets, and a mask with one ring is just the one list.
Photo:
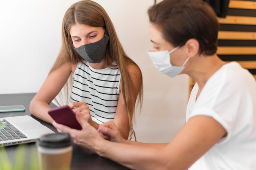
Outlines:
{"label": "white sleeveless top with thin black horizontal stripes", "polygon": [[118,68],[94,69],[87,61],[78,63],[73,74],[71,102],[86,102],[92,120],[99,124],[114,121],[120,77]]}

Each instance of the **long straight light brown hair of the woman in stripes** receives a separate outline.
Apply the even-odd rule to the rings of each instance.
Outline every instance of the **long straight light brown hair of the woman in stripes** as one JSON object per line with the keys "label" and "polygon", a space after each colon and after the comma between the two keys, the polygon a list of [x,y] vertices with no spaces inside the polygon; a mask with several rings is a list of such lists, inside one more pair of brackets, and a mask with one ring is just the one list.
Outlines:
{"label": "long straight light brown hair of the woman in stripes", "polygon": [[[135,114],[135,103],[139,104],[140,108],[142,105],[143,99],[143,81],[141,70],[138,65],[129,58],[117,37],[114,25],[110,20],[106,11],[96,2],[91,0],[82,0],[74,3],[69,9],[67,9],[65,16],[63,18],[62,24],[62,46],[58,54],[58,57],[51,69],[50,72],[60,67],[64,63],[68,62],[71,64],[79,63],[83,60],[81,56],[73,49],[73,43],[70,36],[70,28],[74,24],[84,24],[92,27],[103,27],[106,31],[106,34],[109,36],[109,43],[106,49],[105,61],[108,67],[114,67],[110,61],[115,61],[117,67],[120,70],[121,74],[121,84],[122,92],[124,96],[124,101],[126,108],[128,110],[128,117],[130,124]],[[132,81],[130,74],[126,69],[127,65],[134,65],[137,67],[140,73],[140,82],[139,82],[139,92],[137,96],[132,96]],[[70,76],[71,78],[71,76]],[[71,89],[70,84],[66,83],[66,95],[69,89]],[[68,94],[68,97],[70,95]]]}

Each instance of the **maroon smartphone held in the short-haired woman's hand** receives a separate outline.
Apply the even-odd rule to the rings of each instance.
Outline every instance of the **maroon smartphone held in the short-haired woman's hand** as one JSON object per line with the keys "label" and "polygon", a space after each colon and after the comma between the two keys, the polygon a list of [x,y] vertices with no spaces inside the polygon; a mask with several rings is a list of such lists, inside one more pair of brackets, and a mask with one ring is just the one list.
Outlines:
{"label": "maroon smartphone held in the short-haired woman's hand", "polygon": [[81,125],[76,120],[75,113],[68,105],[52,108],[48,110],[48,113],[57,123],[66,125],[72,129],[82,129]]}

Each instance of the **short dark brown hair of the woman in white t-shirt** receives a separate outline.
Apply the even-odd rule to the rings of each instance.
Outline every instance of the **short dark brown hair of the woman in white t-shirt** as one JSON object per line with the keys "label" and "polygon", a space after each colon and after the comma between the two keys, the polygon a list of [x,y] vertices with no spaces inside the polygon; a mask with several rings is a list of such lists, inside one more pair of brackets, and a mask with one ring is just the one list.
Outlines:
{"label": "short dark brown hair of the woman in white t-shirt", "polygon": [[183,46],[194,38],[200,44],[200,54],[216,53],[218,20],[213,9],[202,0],[164,0],[150,7],[148,16],[173,46]]}

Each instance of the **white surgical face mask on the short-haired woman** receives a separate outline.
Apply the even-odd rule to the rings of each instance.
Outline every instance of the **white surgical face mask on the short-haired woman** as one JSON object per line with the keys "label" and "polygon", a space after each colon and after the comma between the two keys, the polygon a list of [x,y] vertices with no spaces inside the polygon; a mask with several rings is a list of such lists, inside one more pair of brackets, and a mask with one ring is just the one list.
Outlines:
{"label": "white surgical face mask on the short-haired woman", "polygon": [[170,76],[173,78],[178,74],[180,74],[180,72],[182,72],[182,70],[184,69],[184,65],[189,60],[189,57],[188,57],[182,66],[171,65],[170,54],[178,48],[179,46],[175,47],[171,51],[166,50],[166,51],[151,52],[150,50],[148,50],[148,56],[150,57],[150,59],[153,62],[153,65],[159,72],[162,72],[167,76]]}

